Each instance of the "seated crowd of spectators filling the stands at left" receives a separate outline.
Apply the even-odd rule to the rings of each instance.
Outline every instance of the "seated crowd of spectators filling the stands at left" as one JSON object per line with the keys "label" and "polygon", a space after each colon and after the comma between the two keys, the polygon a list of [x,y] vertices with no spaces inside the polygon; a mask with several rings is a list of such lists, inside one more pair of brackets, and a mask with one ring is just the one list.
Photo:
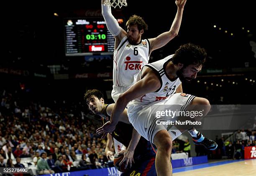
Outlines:
{"label": "seated crowd of spectators filling the stands at left", "polygon": [[[55,110],[1,92],[0,166],[36,167],[38,174],[112,166],[105,156],[106,140],[95,133],[97,123],[63,104]],[[26,105],[26,106],[25,106]],[[82,115],[81,115],[82,114]]]}

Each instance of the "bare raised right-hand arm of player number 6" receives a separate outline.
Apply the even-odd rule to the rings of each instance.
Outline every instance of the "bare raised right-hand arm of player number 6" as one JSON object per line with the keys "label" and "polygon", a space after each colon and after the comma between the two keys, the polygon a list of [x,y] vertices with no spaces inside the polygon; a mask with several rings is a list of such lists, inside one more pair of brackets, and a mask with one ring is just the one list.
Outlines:
{"label": "bare raised right-hand arm of player number 6", "polygon": [[148,39],[150,42],[150,52],[156,50],[158,48],[163,47],[166,45],[170,40],[172,40],[175,36],[179,33],[179,28],[182,22],[182,14],[184,10],[184,5],[187,0],[176,0],[175,3],[178,7],[176,16],[174,21],[172,22],[172,26],[168,32],[162,33],[156,38]]}

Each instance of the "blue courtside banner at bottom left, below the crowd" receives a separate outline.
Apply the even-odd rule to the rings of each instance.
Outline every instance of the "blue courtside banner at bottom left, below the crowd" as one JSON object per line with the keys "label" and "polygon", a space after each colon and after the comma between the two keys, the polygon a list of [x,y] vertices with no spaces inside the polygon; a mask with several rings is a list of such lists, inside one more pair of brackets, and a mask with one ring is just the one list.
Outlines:
{"label": "blue courtside banner at bottom left, below the crowd", "polygon": [[118,170],[115,167],[111,168],[100,168],[91,169],[85,171],[74,171],[74,172],[63,172],[63,173],[52,173],[41,176],[119,176]]}

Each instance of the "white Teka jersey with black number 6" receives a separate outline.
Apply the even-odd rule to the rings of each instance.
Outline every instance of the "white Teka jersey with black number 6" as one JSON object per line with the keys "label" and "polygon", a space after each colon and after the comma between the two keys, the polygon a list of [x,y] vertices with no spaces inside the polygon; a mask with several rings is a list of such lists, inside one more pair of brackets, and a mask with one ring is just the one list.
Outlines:
{"label": "white Teka jersey with black number 6", "polygon": [[114,51],[113,85],[131,87],[136,83],[141,68],[148,63],[150,43],[141,40],[131,45],[125,36]]}

